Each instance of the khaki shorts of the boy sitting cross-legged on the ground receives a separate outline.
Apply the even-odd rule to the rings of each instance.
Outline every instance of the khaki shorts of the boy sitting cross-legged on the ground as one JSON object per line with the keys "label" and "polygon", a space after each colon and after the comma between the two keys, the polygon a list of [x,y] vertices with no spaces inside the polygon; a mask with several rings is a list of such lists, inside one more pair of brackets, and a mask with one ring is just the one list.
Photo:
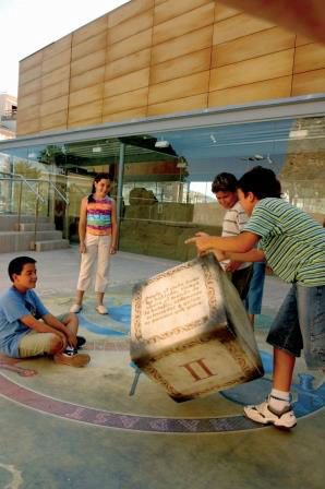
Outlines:
{"label": "khaki shorts of the boy sitting cross-legged on the ground", "polygon": [[[69,314],[57,315],[57,319],[63,322]],[[23,336],[19,344],[20,358],[38,357],[40,355],[49,354],[51,350],[52,339],[55,333],[38,333],[35,330],[31,330]]]}

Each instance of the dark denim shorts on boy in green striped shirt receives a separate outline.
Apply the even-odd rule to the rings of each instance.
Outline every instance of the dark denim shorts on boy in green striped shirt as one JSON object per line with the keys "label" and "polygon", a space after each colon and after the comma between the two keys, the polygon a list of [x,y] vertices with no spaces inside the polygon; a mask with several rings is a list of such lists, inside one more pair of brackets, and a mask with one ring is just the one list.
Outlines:
{"label": "dark denim shorts on boy in green striped shirt", "polygon": [[293,284],[266,341],[294,357],[303,348],[310,369],[325,368],[325,285]]}

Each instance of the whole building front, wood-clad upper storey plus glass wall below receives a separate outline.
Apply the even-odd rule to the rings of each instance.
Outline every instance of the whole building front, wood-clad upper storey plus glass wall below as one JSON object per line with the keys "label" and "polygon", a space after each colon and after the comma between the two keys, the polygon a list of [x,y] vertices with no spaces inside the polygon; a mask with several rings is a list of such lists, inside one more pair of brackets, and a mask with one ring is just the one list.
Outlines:
{"label": "whole building front, wood-clad upper storey plus glass wall below", "polygon": [[21,61],[2,164],[69,194],[72,238],[94,172],[109,171],[128,251],[191,258],[188,236],[220,230],[214,176],[256,164],[321,222],[324,55],[218,0],[132,0]]}

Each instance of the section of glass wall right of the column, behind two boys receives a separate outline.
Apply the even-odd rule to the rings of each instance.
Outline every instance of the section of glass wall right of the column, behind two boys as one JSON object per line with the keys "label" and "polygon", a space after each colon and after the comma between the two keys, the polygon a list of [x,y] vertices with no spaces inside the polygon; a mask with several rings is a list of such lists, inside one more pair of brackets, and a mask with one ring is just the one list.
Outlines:
{"label": "section of glass wall right of the column, behind two boys", "polygon": [[221,230],[225,212],[210,191],[214,177],[228,171],[239,178],[256,165],[276,172],[285,199],[324,220],[324,118],[212,126],[142,138],[143,145],[165,159],[125,165],[121,244],[128,251],[190,259],[194,250],[183,246],[189,236]]}

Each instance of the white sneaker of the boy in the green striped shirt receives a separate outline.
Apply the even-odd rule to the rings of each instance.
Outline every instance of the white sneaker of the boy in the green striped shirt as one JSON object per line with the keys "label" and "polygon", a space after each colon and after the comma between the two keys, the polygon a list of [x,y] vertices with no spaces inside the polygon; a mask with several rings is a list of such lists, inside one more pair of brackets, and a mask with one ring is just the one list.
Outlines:
{"label": "white sneaker of the boy in the green striped shirt", "polygon": [[291,404],[288,404],[281,412],[276,412],[269,405],[268,396],[264,403],[256,406],[244,407],[245,416],[252,421],[261,425],[274,425],[277,428],[290,429],[297,425],[297,419]]}

